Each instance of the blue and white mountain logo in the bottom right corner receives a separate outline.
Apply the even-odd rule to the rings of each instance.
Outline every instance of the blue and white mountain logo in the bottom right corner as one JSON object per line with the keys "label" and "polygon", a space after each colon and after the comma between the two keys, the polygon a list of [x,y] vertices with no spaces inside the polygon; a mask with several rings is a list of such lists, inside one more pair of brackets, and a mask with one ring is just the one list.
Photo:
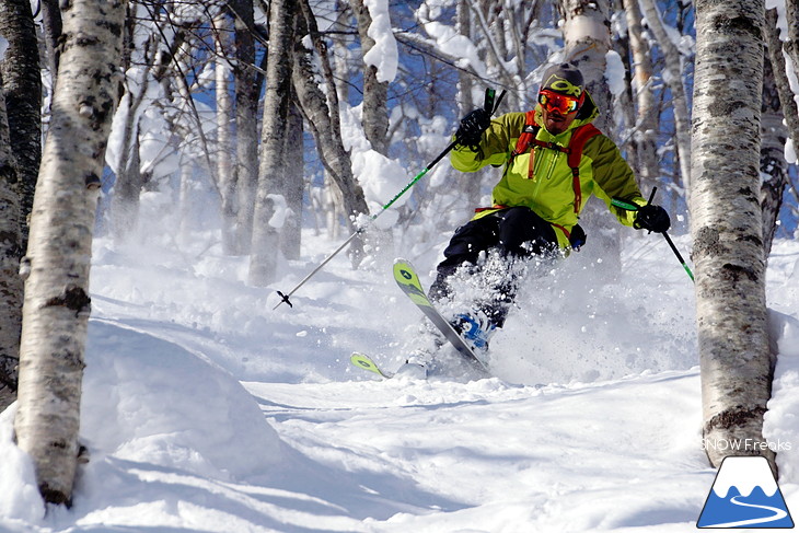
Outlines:
{"label": "blue and white mountain logo in the bottom right corner", "polygon": [[794,520],[765,457],[729,456],[721,462],[696,526],[790,529]]}

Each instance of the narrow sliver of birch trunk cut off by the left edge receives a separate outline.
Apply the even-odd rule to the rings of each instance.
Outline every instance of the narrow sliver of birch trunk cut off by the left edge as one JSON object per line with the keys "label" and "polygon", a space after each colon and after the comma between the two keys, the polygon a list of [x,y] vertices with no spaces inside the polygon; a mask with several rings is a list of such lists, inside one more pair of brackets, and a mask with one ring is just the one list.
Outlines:
{"label": "narrow sliver of birch trunk cut off by the left edge", "polygon": [[5,118],[5,99],[0,79],[0,412],[16,398],[22,327],[22,278],[20,278],[20,197]]}

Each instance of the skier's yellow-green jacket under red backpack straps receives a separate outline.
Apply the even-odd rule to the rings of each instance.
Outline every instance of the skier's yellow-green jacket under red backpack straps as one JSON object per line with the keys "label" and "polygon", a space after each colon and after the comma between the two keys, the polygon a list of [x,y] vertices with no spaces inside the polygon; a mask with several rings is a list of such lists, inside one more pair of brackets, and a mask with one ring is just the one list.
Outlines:
{"label": "skier's yellow-green jacket under red backpack straps", "polygon": [[[533,177],[529,178],[530,150],[512,158],[519,136],[522,134],[525,113],[508,113],[491,120],[483,134],[477,152],[466,147],[456,147],[450,155],[452,166],[462,172],[475,172],[486,165],[505,165],[502,178],[494,187],[494,206],[525,206],[541,218],[552,223],[558,236],[560,247],[570,246],[568,234],[577,224],[578,215],[575,209],[575,188],[572,172],[566,160],[567,154],[558,150],[533,148]],[[535,107],[535,121],[543,124],[541,106]],[[568,130],[554,136],[546,128],[539,129],[536,139],[543,142],[555,142],[568,147],[575,128],[592,121],[599,109],[590,96],[578,113]],[[582,210],[589,195],[602,198],[607,208],[625,225],[633,225],[635,212],[611,206],[611,198],[617,197],[639,206],[646,204],[641,197],[635,175],[627,162],[622,158],[616,144],[598,135],[586,142],[580,161],[580,184],[582,201],[577,211]],[[482,210],[475,219],[484,217],[497,209]]]}

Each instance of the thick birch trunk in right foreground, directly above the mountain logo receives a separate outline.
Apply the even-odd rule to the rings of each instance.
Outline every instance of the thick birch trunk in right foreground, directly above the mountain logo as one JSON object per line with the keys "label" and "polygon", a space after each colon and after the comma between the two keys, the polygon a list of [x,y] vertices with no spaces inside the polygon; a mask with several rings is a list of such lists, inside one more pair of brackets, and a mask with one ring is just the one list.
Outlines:
{"label": "thick birch trunk in right foreground, directly above the mountain logo", "polygon": [[774,459],[746,445],[764,441],[773,369],[759,204],[765,9],[764,0],[695,4],[691,231],[703,434],[719,466],[731,453]]}

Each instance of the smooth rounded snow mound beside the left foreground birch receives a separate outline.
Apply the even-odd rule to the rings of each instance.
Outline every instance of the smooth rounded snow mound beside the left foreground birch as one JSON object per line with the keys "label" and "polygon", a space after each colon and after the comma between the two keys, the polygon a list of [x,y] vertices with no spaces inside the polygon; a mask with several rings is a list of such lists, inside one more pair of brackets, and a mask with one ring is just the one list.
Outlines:
{"label": "smooth rounded snow mound beside the left foreground birch", "polygon": [[279,439],[227,371],[119,325],[89,327],[81,436],[96,455],[223,480],[264,474]]}

